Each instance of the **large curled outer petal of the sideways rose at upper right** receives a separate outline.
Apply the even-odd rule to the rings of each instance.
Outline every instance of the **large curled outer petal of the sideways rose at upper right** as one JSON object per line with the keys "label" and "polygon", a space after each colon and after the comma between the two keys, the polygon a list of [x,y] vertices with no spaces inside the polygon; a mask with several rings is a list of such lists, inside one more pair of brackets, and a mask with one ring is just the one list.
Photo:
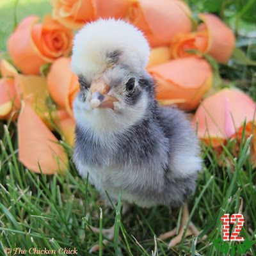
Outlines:
{"label": "large curled outer petal of the sideways rose at upper right", "polygon": [[199,17],[204,24],[201,24],[198,29],[208,32],[209,43],[206,52],[216,61],[227,62],[236,44],[233,31],[216,15],[201,13]]}

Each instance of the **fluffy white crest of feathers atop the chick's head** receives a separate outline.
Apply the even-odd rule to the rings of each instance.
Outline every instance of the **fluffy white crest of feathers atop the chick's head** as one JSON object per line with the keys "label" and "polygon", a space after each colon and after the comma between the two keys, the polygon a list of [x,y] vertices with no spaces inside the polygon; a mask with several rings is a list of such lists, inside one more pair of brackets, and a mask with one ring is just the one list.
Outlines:
{"label": "fluffy white crest of feathers atop the chick's head", "polygon": [[99,19],[87,23],[75,36],[72,70],[88,79],[108,67],[106,54],[122,51],[120,63],[138,70],[148,63],[148,42],[137,28],[124,20]]}

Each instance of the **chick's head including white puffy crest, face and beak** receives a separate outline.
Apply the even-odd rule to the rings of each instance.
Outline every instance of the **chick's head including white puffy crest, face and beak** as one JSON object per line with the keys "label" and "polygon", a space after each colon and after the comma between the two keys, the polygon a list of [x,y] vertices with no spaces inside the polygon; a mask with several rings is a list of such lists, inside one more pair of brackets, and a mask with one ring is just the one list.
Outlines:
{"label": "chick's head including white puffy crest, face and beak", "polygon": [[74,39],[72,70],[80,93],[74,102],[78,125],[97,131],[125,129],[147,115],[154,86],[145,71],[148,42],[124,20],[88,23]]}

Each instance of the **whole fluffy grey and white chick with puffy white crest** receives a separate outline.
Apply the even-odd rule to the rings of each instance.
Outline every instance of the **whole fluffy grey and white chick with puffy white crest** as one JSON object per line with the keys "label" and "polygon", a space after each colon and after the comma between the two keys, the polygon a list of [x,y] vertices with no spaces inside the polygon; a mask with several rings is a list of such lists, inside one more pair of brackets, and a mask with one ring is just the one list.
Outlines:
{"label": "whole fluffy grey and white chick with puffy white crest", "polygon": [[[124,202],[177,207],[195,190],[201,169],[198,139],[182,111],[157,104],[156,85],[145,69],[149,53],[141,31],[123,20],[100,19],[77,33],[74,163],[113,200],[122,190]],[[188,216],[185,205],[170,246],[180,242]],[[197,236],[198,230],[189,223],[187,235],[192,233]]]}

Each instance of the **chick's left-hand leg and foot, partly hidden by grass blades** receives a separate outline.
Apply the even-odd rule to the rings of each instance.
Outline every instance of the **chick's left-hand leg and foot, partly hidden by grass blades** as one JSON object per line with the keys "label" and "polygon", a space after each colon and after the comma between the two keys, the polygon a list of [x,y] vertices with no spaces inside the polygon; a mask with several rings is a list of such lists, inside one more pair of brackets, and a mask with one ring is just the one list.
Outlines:
{"label": "chick's left-hand leg and foot, partly hidden by grass blades", "polygon": [[[126,214],[130,209],[130,205],[126,202],[124,202],[123,204],[123,207],[122,207],[122,216],[124,216],[124,214]],[[96,234],[100,234],[100,228],[95,228],[95,227],[92,227],[92,226],[89,226],[88,227],[90,230],[92,230],[93,232],[95,232]],[[114,238],[114,232],[115,232],[115,225],[113,225],[112,227],[110,228],[103,228],[102,229],[102,235],[103,237],[106,237],[108,238],[107,239],[104,239],[102,241],[102,243],[104,245],[107,245],[109,243],[109,240],[113,240]],[[95,244],[94,246],[92,246],[92,248],[90,249],[90,253],[92,252],[98,252],[99,251],[99,244]]]}

